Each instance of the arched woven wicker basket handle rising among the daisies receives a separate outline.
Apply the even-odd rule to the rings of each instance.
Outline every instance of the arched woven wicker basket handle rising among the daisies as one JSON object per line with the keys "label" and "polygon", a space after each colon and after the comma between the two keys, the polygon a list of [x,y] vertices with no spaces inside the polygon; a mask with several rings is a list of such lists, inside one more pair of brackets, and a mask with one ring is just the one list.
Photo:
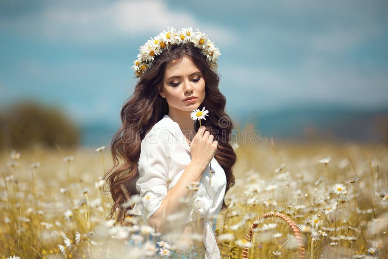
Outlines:
{"label": "arched woven wicker basket handle rising among the daisies", "polygon": [[[294,232],[294,235],[297,239],[298,246],[299,246],[299,259],[304,259],[305,258],[305,246],[303,244],[303,239],[300,235],[299,228],[295,225],[295,223],[286,215],[279,213],[279,212],[268,212],[261,217],[259,217],[256,221],[262,218],[269,218],[269,217],[279,217],[282,220],[286,221],[287,224],[291,227],[292,231]],[[255,221],[255,222],[256,222]],[[254,228],[258,227],[258,224],[253,223],[252,226],[249,228],[249,232],[245,236],[245,240],[248,242],[252,241],[252,230]],[[248,252],[249,248],[244,247],[242,250],[242,259],[248,259]]]}

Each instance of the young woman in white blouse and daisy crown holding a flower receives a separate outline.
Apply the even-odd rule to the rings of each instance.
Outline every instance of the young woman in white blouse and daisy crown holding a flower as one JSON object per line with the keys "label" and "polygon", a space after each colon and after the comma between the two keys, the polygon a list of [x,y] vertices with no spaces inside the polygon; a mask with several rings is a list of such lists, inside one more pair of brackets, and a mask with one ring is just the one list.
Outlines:
{"label": "young woman in white blouse and daisy crown holding a flower", "polygon": [[[194,247],[205,258],[220,258],[213,220],[226,209],[236,154],[218,89],[219,50],[205,33],[168,28],[140,51],[132,67],[139,81],[122,108],[113,167],[105,175],[114,201],[110,217],[117,213],[123,223],[127,214],[141,215],[177,253]],[[193,121],[195,109],[209,113]],[[128,194],[140,194],[133,208],[120,206]]]}

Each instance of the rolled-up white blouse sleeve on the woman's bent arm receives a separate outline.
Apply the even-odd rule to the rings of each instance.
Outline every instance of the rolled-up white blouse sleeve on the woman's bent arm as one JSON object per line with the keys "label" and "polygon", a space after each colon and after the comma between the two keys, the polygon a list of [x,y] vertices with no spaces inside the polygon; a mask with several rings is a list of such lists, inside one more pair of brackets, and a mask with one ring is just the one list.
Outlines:
{"label": "rolled-up white blouse sleeve on the woman's bent arm", "polygon": [[167,196],[169,171],[168,146],[156,130],[152,129],[142,140],[138,162],[139,179],[136,189],[140,198],[134,211],[147,222]]}

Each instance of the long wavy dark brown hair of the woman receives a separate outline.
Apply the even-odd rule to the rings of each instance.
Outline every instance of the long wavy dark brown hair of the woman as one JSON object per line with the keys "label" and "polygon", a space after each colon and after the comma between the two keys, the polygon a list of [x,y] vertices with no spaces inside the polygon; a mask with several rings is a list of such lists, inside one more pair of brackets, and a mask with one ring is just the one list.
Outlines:
{"label": "long wavy dark brown hair of the woman", "polygon": [[[159,95],[165,66],[184,56],[196,65],[205,80],[205,99],[199,109],[206,107],[209,116],[201,121],[201,125],[214,135],[214,140],[218,141],[218,149],[214,157],[225,171],[226,192],[235,184],[232,166],[236,162],[236,154],[229,144],[233,123],[225,113],[226,98],[218,89],[220,78],[210,69],[206,57],[192,43],[173,45],[155,57],[152,65],[140,76],[133,94],[121,109],[122,126],[114,134],[111,144],[113,166],[104,175],[113,198],[113,207],[107,218],[113,218],[117,214],[117,222],[120,221],[123,224],[129,208],[123,208],[120,205],[126,202],[129,195],[138,194],[135,184],[138,178],[137,166],[141,141],[152,126],[168,113],[167,101]],[[198,128],[199,122],[196,120],[195,131]],[[119,158],[123,163],[119,162]],[[225,209],[226,204],[223,201],[221,210]]]}

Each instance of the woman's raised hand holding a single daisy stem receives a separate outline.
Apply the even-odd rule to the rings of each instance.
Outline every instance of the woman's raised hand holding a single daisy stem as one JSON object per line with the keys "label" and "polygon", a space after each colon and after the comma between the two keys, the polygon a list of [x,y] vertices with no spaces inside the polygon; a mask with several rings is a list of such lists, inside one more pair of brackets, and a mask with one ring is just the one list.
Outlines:
{"label": "woman's raised hand holding a single daisy stem", "polygon": [[190,144],[191,160],[205,169],[213,159],[217,151],[218,142],[213,141],[214,136],[208,130],[201,126]]}

